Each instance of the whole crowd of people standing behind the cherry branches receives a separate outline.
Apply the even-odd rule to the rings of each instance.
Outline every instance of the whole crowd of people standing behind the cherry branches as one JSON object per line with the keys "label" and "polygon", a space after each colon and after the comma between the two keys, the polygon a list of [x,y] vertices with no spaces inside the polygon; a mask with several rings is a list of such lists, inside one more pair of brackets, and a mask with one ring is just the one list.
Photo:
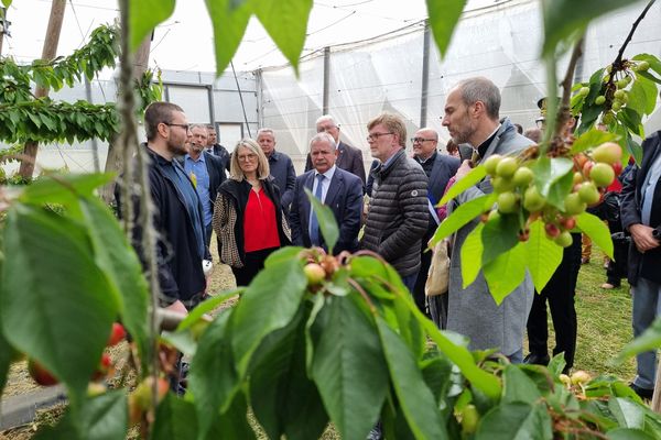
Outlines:
{"label": "whole crowd of people standing behind the cherry branches", "polygon": [[[292,160],[277,151],[273,130],[259,130],[256,141],[243,139],[229,154],[218,144],[213,125],[189,125],[178,106],[152,103],[144,117],[144,146],[151,158],[149,182],[155,206],[162,305],[186,312],[205,298],[202,267],[203,261],[210,258],[212,231],[217,235],[220,261],[231,267],[239,286],[248,285],[268,255],[282,246],[326,248],[307,188],[332,209],[339,226],[334,253],[362,249],[381,255],[399,273],[418,307],[441,328],[467,337],[472,350],[496,349],[511,362],[548,363],[549,302],[555,328],[553,354],[564,353],[568,371],[576,346],[579,233],[572,234],[573,244],[564,250],[561,265],[539,295],[527,275],[498,305],[481,273],[464,286],[462,265],[475,262],[462,262],[460,253],[452,252],[460,249],[477,226],[479,218],[475,218],[448,241],[448,292],[438,297],[425,295],[432,257],[425,251],[437,226],[463,204],[491,193],[492,187],[487,177],[438,207],[444,193],[490,155],[516,154],[540,141],[543,128],[523,131],[501,118],[499,109],[500,91],[492,81],[484,77],[463,80],[448,92],[442,117],[451,136],[446,151],[440,148],[437,131],[422,128],[411,138],[411,153],[405,150],[404,121],[381,113],[366,127],[373,158],[367,174],[361,151],[340,141],[339,124],[332,116],[323,116],[310,141],[305,172],[296,176]],[[568,135],[571,124],[566,130]],[[643,143],[641,165],[622,173],[615,201],[619,229],[603,215],[614,232],[622,234],[608,284],[618,286],[628,272],[636,334],[661,311],[660,133]],[[136,205],[134,212],[139,208]],[[141,234],[137,224],[139,253]],[[628,264],[622,266],[627,251]],[[631,386],[643,397],[651,396],[654,372],[654,353],[640,355]]]}

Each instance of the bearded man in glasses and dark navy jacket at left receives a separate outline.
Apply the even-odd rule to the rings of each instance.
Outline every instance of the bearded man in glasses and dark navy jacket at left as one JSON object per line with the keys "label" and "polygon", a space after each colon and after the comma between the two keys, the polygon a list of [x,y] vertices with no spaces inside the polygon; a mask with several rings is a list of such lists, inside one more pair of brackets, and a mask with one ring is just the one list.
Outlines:
{"label": "bearded man in glasses and dark navy jacket at left", "polygon": [[[153,227],[158,240],[159,300],[162,307],[187,314],[205,295],[202,261],[208,256],[199,197],[186,172],[175,160],[175,156],[186,153],[185,143],[191,130],[181,107],[160,101],[152,102],[144,111],[144,129],[148,178],[154,206]],[[120,201],[119,187],[116,193]],[[120,202],[118,205],[121,207]],[[138,200],[133,200],[133,207],[132,244],[144,264],[144,226],[138,221]]]}

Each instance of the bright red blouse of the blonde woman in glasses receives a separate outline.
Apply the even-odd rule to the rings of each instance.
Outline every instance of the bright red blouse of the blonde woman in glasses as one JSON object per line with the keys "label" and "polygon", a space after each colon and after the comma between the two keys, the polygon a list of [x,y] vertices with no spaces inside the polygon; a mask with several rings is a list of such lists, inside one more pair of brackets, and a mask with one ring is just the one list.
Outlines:
{"label": "bright red blouse of the blonde woman in glasses", "polygon": [[243,215],[243,251],[280,248],[275,206],[263,188],[250,190]]}

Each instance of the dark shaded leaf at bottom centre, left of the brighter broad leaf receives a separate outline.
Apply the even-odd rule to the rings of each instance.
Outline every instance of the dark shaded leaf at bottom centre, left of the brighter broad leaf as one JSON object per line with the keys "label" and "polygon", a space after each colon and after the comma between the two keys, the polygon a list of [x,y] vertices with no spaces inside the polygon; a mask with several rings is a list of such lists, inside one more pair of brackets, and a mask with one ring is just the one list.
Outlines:
{"label": "dark shaded leaf at bottom centre, left of the brighter broad leaf", "polygon": [[283,334],[267,337],[256,355],[259,362],[250,367],[252,410],[271,439],[318,439],[328,424],[317,387],[306,374],[303,318],[301,309],[290,326],[274,332]]}

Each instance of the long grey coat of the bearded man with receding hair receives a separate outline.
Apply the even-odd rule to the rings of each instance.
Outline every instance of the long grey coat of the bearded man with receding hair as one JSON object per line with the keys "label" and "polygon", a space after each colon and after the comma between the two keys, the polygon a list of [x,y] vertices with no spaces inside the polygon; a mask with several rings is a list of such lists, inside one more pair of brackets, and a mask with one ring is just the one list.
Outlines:
{"label": "long grey coat of the bearded man with receding hair", "polygon": [[[491,154],[511,154],[521,151],[531,143],[532,141],[517,133],[514,125],[506,118],[501,121],[483,160]],[[457,196],[448,204],[448,209],[456,209],[457,205],[492,191],[491,180],[486,178]],[[530,275],[527,274],[523,283],[505,298],[500,306],[491,297],[481,271],[472,285],[463,288],[462,264],[475,264],[475,262],[462,262],[460,249],[466,237],[478,222],[479,217],[462,227],[453,239],[447,330],[468,337],[470,350],[497,349],[505,355],[511,355],[522,348],[534,288]]]}

